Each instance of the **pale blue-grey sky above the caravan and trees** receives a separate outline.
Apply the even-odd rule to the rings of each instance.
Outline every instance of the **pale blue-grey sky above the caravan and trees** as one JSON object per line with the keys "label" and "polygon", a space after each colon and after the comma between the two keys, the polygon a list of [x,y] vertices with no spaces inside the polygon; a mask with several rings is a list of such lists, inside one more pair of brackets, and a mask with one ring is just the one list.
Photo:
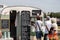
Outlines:
{"label": "pale blue-grey sky above the caravan and trees", "polygon": [[44,12],[60,12],[60,0],[0,0],[0,4],[34,6]]}

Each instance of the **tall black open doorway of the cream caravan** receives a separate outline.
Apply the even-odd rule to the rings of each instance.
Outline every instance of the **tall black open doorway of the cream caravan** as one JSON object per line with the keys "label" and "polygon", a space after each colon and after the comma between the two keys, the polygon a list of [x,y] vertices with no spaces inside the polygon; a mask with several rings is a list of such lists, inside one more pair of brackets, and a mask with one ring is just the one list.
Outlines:
{"label": "tall black open doorway of the cream caravan", "polygon": [[16,10],[10,11],[10,36],[16,40],[16,27],[15,27],[15,19],[16,19]]}

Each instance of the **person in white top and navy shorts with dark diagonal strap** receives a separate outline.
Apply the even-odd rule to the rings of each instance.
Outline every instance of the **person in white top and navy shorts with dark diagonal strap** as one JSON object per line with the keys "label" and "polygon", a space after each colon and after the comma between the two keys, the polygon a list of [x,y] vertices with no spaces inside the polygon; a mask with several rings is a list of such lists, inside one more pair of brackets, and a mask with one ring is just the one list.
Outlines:
{"label": "person in white top and navy shorts with dark diagonal strap", "polygon": [[36,29],[36,38],[37,40],[41,40],[41,37],[43,36],[41,33],[41,27],[42,27],[42,18],[41,16],[37,15],[37,20],[35,21],[35,29]]}

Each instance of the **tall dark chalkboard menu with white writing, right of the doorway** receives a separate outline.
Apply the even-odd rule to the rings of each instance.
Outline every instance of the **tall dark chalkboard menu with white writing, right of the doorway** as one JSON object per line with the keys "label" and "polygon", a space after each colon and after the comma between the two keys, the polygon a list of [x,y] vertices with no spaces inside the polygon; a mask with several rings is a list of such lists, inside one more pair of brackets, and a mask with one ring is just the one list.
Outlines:
{"label": "tall dark chalkboard menu with white writing, right of the doorway", "polygon": [[21,40],[30,40],[30,12],[21,12]]}

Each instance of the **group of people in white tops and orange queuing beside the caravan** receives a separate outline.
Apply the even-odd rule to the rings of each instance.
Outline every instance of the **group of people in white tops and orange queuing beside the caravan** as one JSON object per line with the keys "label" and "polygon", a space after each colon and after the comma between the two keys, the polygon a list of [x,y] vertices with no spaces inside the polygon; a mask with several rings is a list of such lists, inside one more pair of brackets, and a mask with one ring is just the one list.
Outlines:
{"label": "group of people in white tops and orange queuing beside the caravan", "polygon": [[[36,17],[37,20],[35,21],[35,32],[36,32],[36,39],[37,40],[58,40],[58,26],[56,23],[56,19],[50,18],[46,16],[45,22],[42,21],[41,16]],[[43,25],[43,23],[45,25]],[[42,39],[43,38],[43,39]]]}

